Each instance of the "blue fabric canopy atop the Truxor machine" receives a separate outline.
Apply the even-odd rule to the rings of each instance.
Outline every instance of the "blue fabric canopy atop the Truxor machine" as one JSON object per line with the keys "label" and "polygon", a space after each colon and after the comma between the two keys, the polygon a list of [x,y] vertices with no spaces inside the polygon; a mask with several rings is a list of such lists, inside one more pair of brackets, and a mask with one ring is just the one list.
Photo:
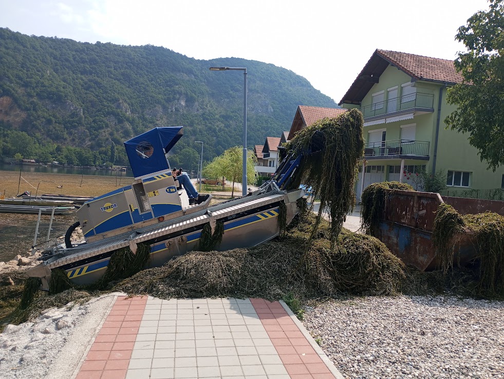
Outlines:
{"label": "blue fabric canopy atop the Truxor machine", "polygon": [[135,177],[169,169],[165,154],[184,134],[183,126],[154,128],[124,143]]}

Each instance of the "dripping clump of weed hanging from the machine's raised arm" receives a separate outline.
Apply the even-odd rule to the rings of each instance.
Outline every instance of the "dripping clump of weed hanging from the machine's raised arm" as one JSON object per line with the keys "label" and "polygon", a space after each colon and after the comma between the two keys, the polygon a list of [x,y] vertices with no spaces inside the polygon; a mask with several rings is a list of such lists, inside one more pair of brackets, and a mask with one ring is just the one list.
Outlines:
{"label": "dripping clump of weed hanging from the machine's raised arm", "polygon": [[313,189],[314,197],[320,197],[320,210],[310,237],[316,232],[323,211],[328,209],[330,240],[334,244],[346,214],[353,210],[358,162],[364,148],[363,123],[362,113],[351,109],[300,130],[286,146],[286,154],[292,154],[293,158],[302,154],[299,174],[289,184],[289,189],[304,184]]}

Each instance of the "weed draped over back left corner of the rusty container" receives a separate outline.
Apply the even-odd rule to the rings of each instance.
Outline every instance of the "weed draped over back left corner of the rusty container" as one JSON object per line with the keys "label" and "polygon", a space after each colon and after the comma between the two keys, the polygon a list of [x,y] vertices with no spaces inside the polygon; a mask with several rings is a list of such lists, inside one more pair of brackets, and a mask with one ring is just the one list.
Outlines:
{"label": "weed draped over back left corner of the rusty container", "polygon": [[372,183],[367,186],[361,196],[361,223],[366,234],[375,235],[378,229],[385,210],[385,190],[413,191],[413,187],[399,182]]}

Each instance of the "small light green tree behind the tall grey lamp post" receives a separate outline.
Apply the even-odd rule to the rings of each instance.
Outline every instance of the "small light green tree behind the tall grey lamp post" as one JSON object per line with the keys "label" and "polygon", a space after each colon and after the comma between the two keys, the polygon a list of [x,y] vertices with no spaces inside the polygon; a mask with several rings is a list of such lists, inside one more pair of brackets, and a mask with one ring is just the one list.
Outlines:
{"label": "small light green tree behind the tall grey lamp post", "polygon": [[[210,177],[226,177],[228,181],[233,182],[231,196],[234,196],[234,183],[241,181],[243,175],[243,147],[235,146],[232,147],[222,155],[214,158],[207,166],[203,168],[203,175]],[[255,171],[254,166],[257,163],[255,154],[247,150],[247,184],[253,183],[255,181]]]}

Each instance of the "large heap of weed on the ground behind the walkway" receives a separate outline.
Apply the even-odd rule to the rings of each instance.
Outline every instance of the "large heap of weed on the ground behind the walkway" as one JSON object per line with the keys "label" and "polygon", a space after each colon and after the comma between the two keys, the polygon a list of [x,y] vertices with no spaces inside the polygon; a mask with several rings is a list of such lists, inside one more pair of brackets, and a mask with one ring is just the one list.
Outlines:
{"label": "large heap of weed on the ground behind the walkway", "polygon": [[[343,230],[331,248],[322,221],[309,246],[315,215],[288,227],[281,241],[250,249],[191,252],[116,286],[128,293],[171,297],[263,297],[276,300],[338,294],[396,294],[404,265],[376,238]],[[308,258],[304,257],[308,254]]]}

